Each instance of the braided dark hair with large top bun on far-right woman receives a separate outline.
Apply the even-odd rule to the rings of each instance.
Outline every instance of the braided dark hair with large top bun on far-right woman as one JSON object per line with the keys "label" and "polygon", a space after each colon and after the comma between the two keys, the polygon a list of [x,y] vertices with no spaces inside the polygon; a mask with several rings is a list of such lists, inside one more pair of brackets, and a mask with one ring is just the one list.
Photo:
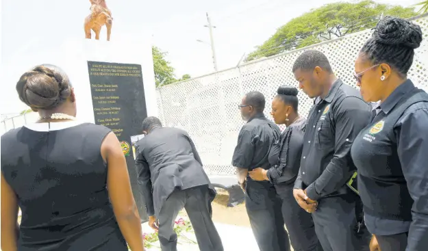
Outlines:
{"label": "braided dark hair with large top bun on far-right woman", "polygon": [[418,25],[403,18],[386,16],[361,49],[373,64],[389,64],[405,77],[412,66],[414,49],[422,42]]}

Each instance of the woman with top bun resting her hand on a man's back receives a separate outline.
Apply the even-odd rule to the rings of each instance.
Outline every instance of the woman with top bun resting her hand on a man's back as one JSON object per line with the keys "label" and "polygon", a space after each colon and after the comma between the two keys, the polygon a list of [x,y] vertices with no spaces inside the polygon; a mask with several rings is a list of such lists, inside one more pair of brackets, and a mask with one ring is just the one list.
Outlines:
{"label": "woman with top bun resting her hand on a man's back", "polygon": [[[303,131],[306,119],[299,116],[298,90],[281,86],[272,101],[272,111],[276,124],[285,124],[279,142],[275,142],[269,153],[269,170],[256,168],[249,172],[255,181],[270,181],[275,184],[278,196],[282,200],[282,215],[286,224],[291,246],[294,250],[323,250],[316,237],[312,215],[303,210],[293,196],[294,181],[300,168],[303,148]],[[316,204],[308,205],[315,209]]]}

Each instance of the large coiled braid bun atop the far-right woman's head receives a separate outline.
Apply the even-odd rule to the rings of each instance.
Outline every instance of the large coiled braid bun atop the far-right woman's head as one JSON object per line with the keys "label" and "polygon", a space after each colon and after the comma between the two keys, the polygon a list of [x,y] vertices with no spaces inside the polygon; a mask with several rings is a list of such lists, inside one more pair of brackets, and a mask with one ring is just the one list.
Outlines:
{"label": "large coiled braid bun atop the far-right woman's head", "polygon": [[375,41],[381,44],[401,45],[416,49],[422,42],[422,31],[419,25],[403,18],[386,16],[375,28]]}

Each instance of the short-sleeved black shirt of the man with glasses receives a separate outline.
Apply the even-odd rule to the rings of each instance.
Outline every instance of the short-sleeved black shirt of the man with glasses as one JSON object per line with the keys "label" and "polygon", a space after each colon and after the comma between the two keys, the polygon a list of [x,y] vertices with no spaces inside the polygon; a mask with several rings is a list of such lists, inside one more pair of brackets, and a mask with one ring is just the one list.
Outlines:
{"label": "short-sleeved black shirt of the man with glasses", "polygon": [[[281,131],[263,114],[257,114],[244,124],[239,135],[238,144],[234,151],[232,165],[237,168],[269,169],[268,155],[273,143],[279,140]],[[246,206],[249,210],[266,209],[271,207],[275,187],[269,181],[253,181],[247,176]]]}

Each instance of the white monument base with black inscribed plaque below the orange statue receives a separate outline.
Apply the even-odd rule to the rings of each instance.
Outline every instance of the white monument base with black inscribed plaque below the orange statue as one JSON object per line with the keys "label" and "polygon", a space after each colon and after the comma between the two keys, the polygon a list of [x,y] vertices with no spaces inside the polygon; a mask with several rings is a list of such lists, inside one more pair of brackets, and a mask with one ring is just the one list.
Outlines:
{"label": "white monument base with black inscribed plaque below the orange statue", "polygon": [[85,64],[85,79],[81,77],[77,93],[82,95],[79,101],[85,99],[84,107],[78,107],[78,116],[84,111],[85,118],[92,118],[88,122],[112,129],[121,142],[141,222],[147,222],[132,143],[142,134],[142,120],[148,114],[157,116],[158,109],[151,46],[142,44],[145,43],[84,40],[79,69]]}

